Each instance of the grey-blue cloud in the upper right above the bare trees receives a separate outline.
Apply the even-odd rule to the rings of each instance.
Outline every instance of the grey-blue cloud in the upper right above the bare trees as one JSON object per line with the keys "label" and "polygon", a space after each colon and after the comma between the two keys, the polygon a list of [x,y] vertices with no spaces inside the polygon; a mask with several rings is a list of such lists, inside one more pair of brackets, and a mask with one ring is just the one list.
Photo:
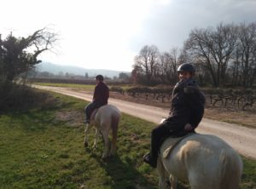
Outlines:
{"label": "grey-blue cloud in the upper right above the bare trees", "polygon": [[146,44],[154,44],[161,51],[181,48],[192,29],[217,26],[220,22],[253,22],[255,9],[253,0],[173,0],[151,9],[141,31],[132,39],[131,49],[138,52]]}

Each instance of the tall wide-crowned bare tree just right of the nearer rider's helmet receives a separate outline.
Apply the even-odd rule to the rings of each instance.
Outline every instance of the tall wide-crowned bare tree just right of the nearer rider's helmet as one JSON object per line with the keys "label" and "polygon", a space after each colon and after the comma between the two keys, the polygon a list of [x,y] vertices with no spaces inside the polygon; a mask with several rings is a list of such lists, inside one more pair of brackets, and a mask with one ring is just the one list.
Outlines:
{"label": "tall wide-crowned bare tree just right of the nearer rider's helmet", "polygon": [[237,27],[219,24],[216,29],[191,31],[185,49],[193,60],[207,69],[212,85],[224,85],[228,63],[236,48]]}

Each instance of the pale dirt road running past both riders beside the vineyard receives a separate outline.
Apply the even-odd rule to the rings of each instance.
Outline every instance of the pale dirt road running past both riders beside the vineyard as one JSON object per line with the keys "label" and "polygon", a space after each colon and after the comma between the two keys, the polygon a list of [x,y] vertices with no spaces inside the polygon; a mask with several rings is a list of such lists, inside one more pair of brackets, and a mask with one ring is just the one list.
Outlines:
{"label": "pale dirt road running past both riders beside the vineyard", "polygon": [[[60,87],[36,87],[61,94],[67,94],[83,100],[90,101],[92,99],[92,95],[85,91],[74,91],[73,89]],[[124,100],[109,99],[109,104],[117,106],[121,112],[143,118],[156,124],[160,123],[160,120],[163,117],[166,117],[169,112],[169,110],[160,107],[146,106]],[[256,129],[203,118],[196,131],[203,134],[217,135],[245,157],[256,158]]]}

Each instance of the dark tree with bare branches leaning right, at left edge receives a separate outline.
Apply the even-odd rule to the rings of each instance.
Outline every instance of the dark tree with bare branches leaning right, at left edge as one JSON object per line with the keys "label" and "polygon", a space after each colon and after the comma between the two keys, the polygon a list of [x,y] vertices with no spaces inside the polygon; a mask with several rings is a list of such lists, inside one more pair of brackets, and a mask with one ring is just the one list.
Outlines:
{"label": "dark tree with bare branches leaning right, at left edge", "polygon": [[21,73],[28,72],[41,62],[38,55],[52,50],[57,34],[43,28],[29,37],[14,37],[12,33],[5,40],[0,39],[2,82],[11,82]]}

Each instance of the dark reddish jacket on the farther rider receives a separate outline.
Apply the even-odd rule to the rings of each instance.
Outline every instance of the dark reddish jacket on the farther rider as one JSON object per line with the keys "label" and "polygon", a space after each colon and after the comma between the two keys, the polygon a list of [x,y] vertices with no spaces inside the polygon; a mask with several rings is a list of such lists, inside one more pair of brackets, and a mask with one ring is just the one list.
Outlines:
{"label": "dark reddish jacket on the farther rider", "polygon": [[95,87],[93,94],[93,101],[99,102],[101,104],[108,104],[109,89],[105,83],[98,83]]}

